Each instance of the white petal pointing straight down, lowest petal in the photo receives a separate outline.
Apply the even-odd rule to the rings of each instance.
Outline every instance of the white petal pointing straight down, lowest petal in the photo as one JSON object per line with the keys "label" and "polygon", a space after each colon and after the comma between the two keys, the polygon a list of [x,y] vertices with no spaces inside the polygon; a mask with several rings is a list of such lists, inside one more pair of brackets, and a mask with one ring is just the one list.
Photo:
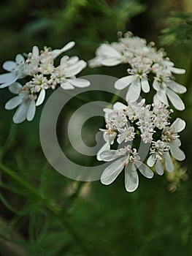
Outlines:
{"label": "white petal pointing straight down, lowest petal in the photo", "polygon": [[127,192],[134,192],[139,186],[139,176],[133,164],[128,162],[125,168],[125,187]]}

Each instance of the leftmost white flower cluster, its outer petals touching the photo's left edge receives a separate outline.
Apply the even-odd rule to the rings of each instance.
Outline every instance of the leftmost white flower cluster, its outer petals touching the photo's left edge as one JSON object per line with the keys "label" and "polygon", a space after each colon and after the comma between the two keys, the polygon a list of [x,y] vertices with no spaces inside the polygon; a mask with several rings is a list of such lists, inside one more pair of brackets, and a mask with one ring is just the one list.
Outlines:
{"label": "leftmost white flower cluster, its outer petals touching the photo's left edge", "polygon": [[88,80],[76,78],[76,75],[86,67],[86,62],[77,56],[63,56],[60,64],[55,67],[55,59],[71,49],[74,42],[69,42],[60,50],[45,47],[39,52],[39,48],[34,46],[31,53],[18,54],[15,61],[5,61],[3,68],[8,73],[0,75],[0,89],[9,87],[9,91],[17,96],[9,99],[5,108],[18,109],[13,116],[15,123],[20,123],[27,119],[34,118],[36,106],[42,104],[45,99],[47,89],[55,89],[61,86],[62,89],[74,89],[86,87],[90,83]]}

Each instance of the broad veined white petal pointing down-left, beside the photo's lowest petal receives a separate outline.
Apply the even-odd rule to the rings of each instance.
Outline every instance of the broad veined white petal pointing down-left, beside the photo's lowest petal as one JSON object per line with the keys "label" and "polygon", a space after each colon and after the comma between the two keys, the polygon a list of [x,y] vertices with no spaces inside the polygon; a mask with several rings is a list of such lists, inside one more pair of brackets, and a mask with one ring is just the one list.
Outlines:
{"label": "broad veined white petal pointing down-left, beside the photo's lowest petal", "polygon": [[123,170],[123,162],[124,157],[116,160],[115,162],[112,162],[107,168],[105,168],[104,172],[101,174],[101,183],[104,185],[109,185],[113,181],[115,181],[115,178],[118,177],[120,172]]}

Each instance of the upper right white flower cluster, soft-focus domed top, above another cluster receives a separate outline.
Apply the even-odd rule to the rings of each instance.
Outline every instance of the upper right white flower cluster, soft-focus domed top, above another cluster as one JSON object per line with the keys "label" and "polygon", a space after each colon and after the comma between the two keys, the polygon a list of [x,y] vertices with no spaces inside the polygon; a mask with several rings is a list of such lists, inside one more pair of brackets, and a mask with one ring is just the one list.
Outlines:
{"label": "upper right white flower cluster, soft-focus domed top, above another cluster", "polygon": [[184,74],[185,69],[174,67],[166,57],[163,49],[157,50],[155,43],[147,45],[145,39],[134,37],[127,32],[120,34],[118,42],[101,44],[96,50],[96,57],[89,61],[90,67],[115,66],[127,64],[128,75],[115,83],[115,88],[122,90],[128,87],[126,100],[135,102],[141,91],[148,93],[150,87],[155,89],[154,100],[169,105],[168,99],[177,110],[184,110],[185,105],[177,94],[185,93],[184,86],[175,82],[173,74]]}

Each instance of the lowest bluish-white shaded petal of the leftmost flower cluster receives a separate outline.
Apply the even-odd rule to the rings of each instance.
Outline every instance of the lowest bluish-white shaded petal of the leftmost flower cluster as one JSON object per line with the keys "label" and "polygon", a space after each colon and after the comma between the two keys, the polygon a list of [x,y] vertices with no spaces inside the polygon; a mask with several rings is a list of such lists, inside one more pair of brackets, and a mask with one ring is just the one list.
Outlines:
{"label": "lowest bluish-white shaded petal of the leftmost flower cluster", "polygon": [[15,115],[13,116],[12,120],[15,124],[20,124],[26,119],[28,106],[31,102],[31,99],[26,99],[24,102],[22,102],[18,109],[15,112]]}

